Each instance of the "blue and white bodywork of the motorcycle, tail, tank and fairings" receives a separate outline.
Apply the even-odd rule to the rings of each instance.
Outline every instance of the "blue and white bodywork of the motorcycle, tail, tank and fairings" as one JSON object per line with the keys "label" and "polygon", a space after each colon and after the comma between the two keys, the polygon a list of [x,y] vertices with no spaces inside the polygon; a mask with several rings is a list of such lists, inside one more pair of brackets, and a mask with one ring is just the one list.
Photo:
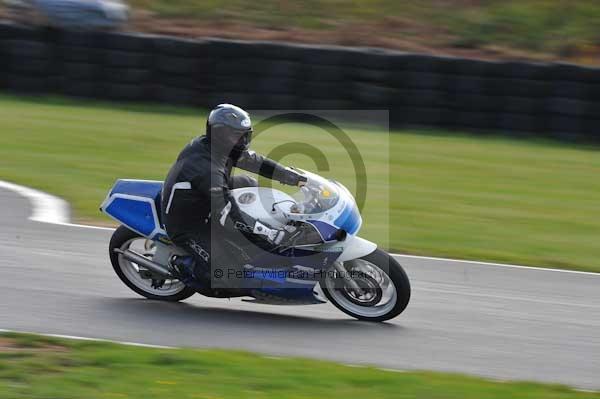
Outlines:
{"label": "blue and white bodywork of the motorcycle, tail, tank and fairings", "polygon": [[[305,232],[301,241],[279,248],[277,253],[263,252],[244,266],[244,276],[249,276],[244,277],[246,288],[261,302],[323,303],[326,298],[319,278],[306,276],[366,256],[377,248],[357,236],[362,218],[354,197],[342,184],[299,172],[307,182],[293,195],[266,187],[232,190],[241,211],[274,228],[294,225]],[[129,230],[153,242],[152,262],[158,264],[157,271],[160,267],[169,270],[173,255],[185,255],[168,239],[161,223],[162,185],[159,181],[117,180],[100,207]],[[306,273],[308,270],[311,272]]]}

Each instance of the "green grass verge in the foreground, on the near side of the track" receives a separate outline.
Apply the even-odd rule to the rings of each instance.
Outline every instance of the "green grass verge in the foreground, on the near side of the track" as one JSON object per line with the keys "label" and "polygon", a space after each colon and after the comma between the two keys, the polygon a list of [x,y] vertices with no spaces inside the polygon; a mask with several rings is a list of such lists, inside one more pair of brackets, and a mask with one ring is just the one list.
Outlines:
{"label": "green grass verge in the foreground, on the near side of the track", "polygon": [[0,398],[600,398],[559,385],[396,373],[221,350],[167,350],[4,334]]}

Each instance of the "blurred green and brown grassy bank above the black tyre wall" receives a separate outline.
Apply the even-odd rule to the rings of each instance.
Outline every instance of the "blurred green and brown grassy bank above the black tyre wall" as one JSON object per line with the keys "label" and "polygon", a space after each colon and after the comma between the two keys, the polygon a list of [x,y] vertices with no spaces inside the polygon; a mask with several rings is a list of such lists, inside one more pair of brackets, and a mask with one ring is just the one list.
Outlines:
{"label": "blurred green and brown grassy bank above the black tyre wall", "polygon": [[[134,8],[187,26],[243,25],[275,31],[343,31],[345,40],[372,37],[427,47],[527,51],[598,63],[600,3],[590,0],[131,0]],[[313,32],[314,33],[314,32]],[[360,37],[362,36],[362,38]],[[386,40],[381,40],[385,43]],[[410,45],[409,45],[409,48]],[[488,54],[489,55],[489,54]],[[512,54],[514,55],[514,54]],[[530,54],[531,56],[532,54]]]}

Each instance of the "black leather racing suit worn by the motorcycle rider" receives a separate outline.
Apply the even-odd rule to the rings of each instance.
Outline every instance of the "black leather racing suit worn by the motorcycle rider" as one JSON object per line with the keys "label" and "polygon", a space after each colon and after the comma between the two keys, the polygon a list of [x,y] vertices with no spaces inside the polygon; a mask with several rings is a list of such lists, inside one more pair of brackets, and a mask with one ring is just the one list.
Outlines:
{"label": "black leather racing suit worn by the motorcycle rider", "polygon": [[169,237],[194,256],[196,269],[200,265],[210,270],[211,246],[219,248],[218,237],[211,237],[211,231],[213,235],[227,230],[251,233],[256,222],[239,209],[230,189],[255,186],[257,182],[249,176],[231,176],[234,166],[284,184],[298,184],[296,172],[253,151],[232,159],[229,154],[219,153],[217,146],[211,151],[206,136],[193,139],[167,175],[161,213]]}

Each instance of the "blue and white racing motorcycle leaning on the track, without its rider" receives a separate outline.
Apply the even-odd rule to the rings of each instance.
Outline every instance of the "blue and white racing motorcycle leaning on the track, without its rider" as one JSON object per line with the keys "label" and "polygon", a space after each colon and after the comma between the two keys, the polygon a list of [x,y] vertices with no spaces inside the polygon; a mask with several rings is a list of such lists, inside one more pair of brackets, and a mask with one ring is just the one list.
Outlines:
{"label": "blue and white racing motorcycle leaning on the track, without its rider", "polygon": [[410,300],[408,277],[396,259],[357,235],[362,218],[352,194],[335,180],[296,170],[307,181],[291,195],[267,187],[231,191],[240,209],[262,223],[293,226],[303,234],[283,248],[251,256],[243,266],[242,287],[218,295],[187,286],[173,272],[173,259],[189,254],[171,242],[161,224],[163,183],[117,180],[100,207],[121,223],[109,244],[116,274],[133,291],[154,300],[181,301],[200,292],[278,305],[330,301],[367,321],[402,313]]}

